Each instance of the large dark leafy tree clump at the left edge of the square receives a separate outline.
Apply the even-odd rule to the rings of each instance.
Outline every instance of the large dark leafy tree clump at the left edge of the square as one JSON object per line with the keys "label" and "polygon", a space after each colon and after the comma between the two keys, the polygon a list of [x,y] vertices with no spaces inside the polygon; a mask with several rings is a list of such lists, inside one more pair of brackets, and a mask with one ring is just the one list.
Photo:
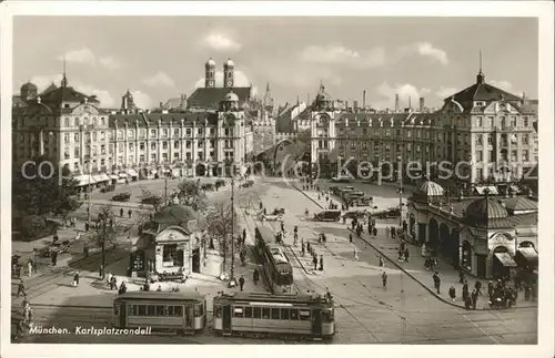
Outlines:
{"label": "large dark leafy tree clump at the left edge of the square", "polygon": [[21,215],[44,217],[53,213],[65,218],[81,206],[75,198],[78,181],[67,167],[57,168],[44,156],[33,163],[13,170],[12,206]]}

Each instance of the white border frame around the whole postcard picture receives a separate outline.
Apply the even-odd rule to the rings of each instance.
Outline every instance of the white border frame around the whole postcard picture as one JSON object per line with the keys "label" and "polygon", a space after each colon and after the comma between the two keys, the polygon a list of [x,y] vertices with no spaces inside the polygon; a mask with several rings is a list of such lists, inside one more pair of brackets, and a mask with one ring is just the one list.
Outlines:
{"label": "white border frame around the whole postcard picture", "polygon": [[[231,6],[230,6],[231,4]],[[392,1],[392,2],[132,2],[132,1],[9,1],[0,3],[0,47],[1,47],[1,114],[0,121],[2,143],[11,143],[11,93],[12,93],[12,17],[13,16],[359,16],[359,17],[534,17],[539,23],[539,67],[538,99],[539,114],[539,152],[542,171],[539,174],[539,224],[542,236],[539,253],[539,315],[538,345],[536,346],[428,346],[403,347],[401,345],[332,345],[325,346],[325,352],[333,356],[353,356],[361,354],[390,355],[401,357],[447,356],[450,358],[465,357],[473,352],[486,357],[553,357],[553,253],[554,253],[554,211],[553,211],[553,43],[554,43],[554,6],[551,1]],[[40,35],[40,33],[38,33]],[[142,356],[170,354],[176,349],[186,350],[190,357],[199,355],[232,355],[232,356],[321,356],[325,355],[322,346],[283,346],[280,349],[268,349],[264,345],[250,346],[249,351],[243,346],[172,346],[164,345],[93,345],[87,348],[79,345],[11,345],[10,327],[10,289],[11,282],[9,257],[11,254],[11,145],[2,145],[1,150],[1,347],[6,357],[98,357],[101,355]],[[367,349],[364,351],[362,349]],[[360,350],[361,349],[361,350]],[[493,356],[492,356],[493,355]]]}

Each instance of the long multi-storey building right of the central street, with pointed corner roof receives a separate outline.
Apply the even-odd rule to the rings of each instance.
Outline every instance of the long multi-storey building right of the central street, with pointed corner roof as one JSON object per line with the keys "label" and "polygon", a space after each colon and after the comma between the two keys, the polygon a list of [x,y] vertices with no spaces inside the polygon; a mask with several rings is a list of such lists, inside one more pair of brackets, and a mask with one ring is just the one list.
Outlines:
{"label": "long multi-storey building right of the central street, with pointed corner roof", "polygon": [[[420,108],[424,109],[422,100]],[[476,184],[492,177],[517,181],[537,164],[536,121],[532,101],[487,84],[480,71],[475,84],[431,113],[356,106],[345,111],[321,85],[294,126],[310,127],[313,163],[352,157],[381,165],[401,160],[405,171],[406,163],[417,162],[432,173],[443,163],[456,174],[450,178]]]}

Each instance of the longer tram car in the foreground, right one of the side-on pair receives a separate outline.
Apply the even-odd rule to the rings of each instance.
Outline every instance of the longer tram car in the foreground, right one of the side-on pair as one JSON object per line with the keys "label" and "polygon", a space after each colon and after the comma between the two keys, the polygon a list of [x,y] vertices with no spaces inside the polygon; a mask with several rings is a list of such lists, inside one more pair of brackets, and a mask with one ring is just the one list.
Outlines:
{"label": "longer tram car in the foreground, right one of the side-on pair", "polygon": [[320,295],[220,294],[213,313],[222,336],[330,340],[335,334],[333,300]]}

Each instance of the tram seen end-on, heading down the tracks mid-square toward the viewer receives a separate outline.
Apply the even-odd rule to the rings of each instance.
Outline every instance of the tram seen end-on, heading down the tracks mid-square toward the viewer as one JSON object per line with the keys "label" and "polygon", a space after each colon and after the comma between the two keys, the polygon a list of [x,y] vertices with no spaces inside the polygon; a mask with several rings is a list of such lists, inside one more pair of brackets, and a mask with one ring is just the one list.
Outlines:
{"label": "tram seen end-on, heading down the tracks mid-square toward the viewer", "polygon": [[293,285],[293,268],[282,247],[275,244],[275,235],[266,226],[254,229],[255,250],[260,265],[263,267],[268,286],[272,293],[291,293]]}

